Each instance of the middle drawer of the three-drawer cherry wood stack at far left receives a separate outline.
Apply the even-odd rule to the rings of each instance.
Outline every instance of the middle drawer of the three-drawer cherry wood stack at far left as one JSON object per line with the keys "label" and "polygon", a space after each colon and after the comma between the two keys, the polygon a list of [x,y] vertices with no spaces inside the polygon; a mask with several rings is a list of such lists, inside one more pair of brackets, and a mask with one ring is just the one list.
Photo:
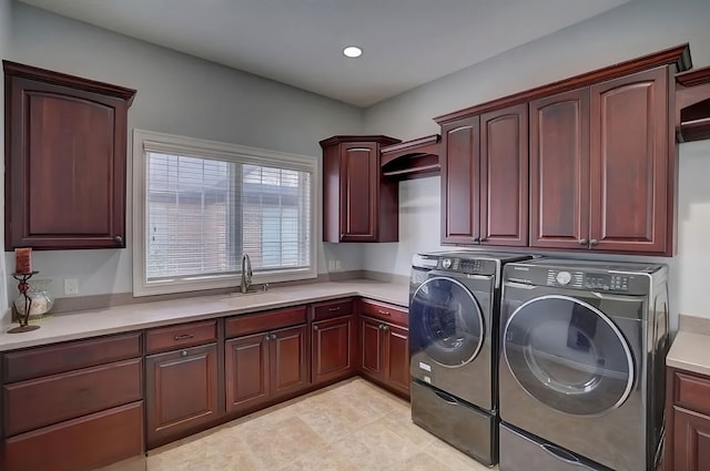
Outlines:
{"label": "middle drawer of the three-drawer cherry wood stack at far left", "polygon": [[7,385],[6,437],[143,397],[141,358]]}

